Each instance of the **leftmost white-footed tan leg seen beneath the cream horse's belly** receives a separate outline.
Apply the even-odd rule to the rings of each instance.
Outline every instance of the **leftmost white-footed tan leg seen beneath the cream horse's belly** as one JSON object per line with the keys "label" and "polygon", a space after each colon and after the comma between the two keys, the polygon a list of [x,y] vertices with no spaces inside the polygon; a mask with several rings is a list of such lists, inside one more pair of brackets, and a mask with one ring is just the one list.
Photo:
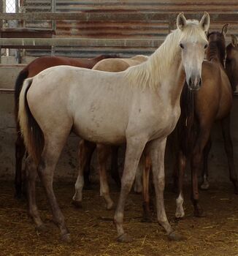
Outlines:
{"label": "leftmost white-footed tan leg seen beneath the cream horse's belly", "polygon": [[82,187],[84,184],[84,175],[88,176],[88,169],[85,166],[90,162],[91,154],[96,148],[96,144],[88,140],[80,140],[78,159],[79,159],[79,173],[77,181],[75,183],[75,194],[73,197],[73,205],[81,208],[82,207]]}

